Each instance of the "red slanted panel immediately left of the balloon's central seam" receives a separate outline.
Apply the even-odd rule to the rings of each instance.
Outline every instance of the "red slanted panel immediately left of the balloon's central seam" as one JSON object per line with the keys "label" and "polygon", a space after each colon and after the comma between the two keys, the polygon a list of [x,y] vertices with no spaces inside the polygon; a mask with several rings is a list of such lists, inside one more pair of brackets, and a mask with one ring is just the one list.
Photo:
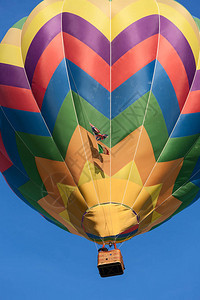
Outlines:
{"label": "red slanted panel immediately left of the balloon's central seam", "polygon": [[105,89],[110,89],[110,67],[90,47],[77,38],[64,33],[65,56],[93,77]]}

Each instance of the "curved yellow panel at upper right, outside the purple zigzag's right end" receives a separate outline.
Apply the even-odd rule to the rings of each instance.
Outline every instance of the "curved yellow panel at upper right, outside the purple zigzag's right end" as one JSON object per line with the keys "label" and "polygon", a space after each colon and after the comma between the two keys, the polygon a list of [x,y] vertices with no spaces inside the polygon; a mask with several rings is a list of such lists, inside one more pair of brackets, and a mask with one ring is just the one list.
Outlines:
{"label": "curved yellow panel at upper right, outside the purple zigzag's right end", "polygon": [[200,47],[199,35],[197,36],[195,34],[191,24],[178,10],[164,3],[159,3],[159,8],[160,14],[170,20],[175,26],[177,26],[186,37],[188,43],[191,46],[197,64]]}

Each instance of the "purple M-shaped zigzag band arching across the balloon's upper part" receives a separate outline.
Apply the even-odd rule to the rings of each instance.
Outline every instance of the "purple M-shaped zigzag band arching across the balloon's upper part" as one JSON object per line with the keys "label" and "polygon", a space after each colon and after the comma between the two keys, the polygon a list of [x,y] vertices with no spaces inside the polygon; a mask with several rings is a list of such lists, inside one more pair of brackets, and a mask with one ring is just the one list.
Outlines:
{"label": "purple M-shaped zigzag band arching across the balloon's upper part", "polygon": [[[75,22],[77,26],[70,26],[72,21]],[[145,30],[144,28],[148,28],[148,30]],[[48,36],[48,39],[45,39],[44,35],[46,35],[47,31],[50,31],[51,35]],[[25,62],[25,68],[30,82],[32,82],[33,73],[41,54],[44,52],[49,42],[51,42],[60,31],[61,15],[58,15],[46,23],[33,39]],[[109,63],[110,43],[93,25],[89,24],[79,16],[64,13],[63,31],[82,41]],[[136,31],[137,35],[134,34]],[[157,33],[157,15],[147,16],[130,25],[112,42],[112,64],[137,44]],[[127,38],[127,35],[129,38]],[[192,50],[186,38],[175,25],[164,17],[161,18],[161,35],[173,45],[174,49],[179,54],[186,69],[189,83],[191,84],[196,67]],[[178,36],[179,38],[178,45],[174,40],[174,36],[176,36],[176,38]],[[40,47],[38,47],[38,44]],[[185,49],[185,51],[183,52],[182,49]],[[185,52],[187,52],[187,57],[185,56]]]}

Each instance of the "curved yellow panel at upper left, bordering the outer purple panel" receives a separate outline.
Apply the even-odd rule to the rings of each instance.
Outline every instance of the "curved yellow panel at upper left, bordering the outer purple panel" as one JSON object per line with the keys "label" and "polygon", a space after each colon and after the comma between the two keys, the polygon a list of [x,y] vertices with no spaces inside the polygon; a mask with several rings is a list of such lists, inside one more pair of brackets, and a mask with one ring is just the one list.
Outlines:
{"label": "curved yellow panel at upper left, bordering the outer purple panel", "polygon": [[35,18],[31,21],[29,27],[27,28],[26,32],[24,33],[23,30],[23,36],[22,36],[22,55],[23,60],[25,61],[26,55],[29,49],[29,46],[34,39],[37,32],[40,30],[40,28],[47,23],[50,19],[55,17],[56,15],[60,14],[62,11],[63,2],[55,2],[47,7],[45,7],[43,10],[41,10]]}

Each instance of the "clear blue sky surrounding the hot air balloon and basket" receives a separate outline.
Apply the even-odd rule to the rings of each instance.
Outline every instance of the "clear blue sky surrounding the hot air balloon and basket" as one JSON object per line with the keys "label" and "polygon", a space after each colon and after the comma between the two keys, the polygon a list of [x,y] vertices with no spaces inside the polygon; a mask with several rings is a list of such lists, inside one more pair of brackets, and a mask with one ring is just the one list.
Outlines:
{"label": "clear blue sky surrounding the hot air balloon and basket", "polygon": [[[39,2],[1,1],[0,40]],[[179,2],[200,16],[199,0]],[[1,175],[0,188],[0,299],[200,299],[200,201],[123,244],[125,274],[102,279],[95,244],[45,221]]]}

